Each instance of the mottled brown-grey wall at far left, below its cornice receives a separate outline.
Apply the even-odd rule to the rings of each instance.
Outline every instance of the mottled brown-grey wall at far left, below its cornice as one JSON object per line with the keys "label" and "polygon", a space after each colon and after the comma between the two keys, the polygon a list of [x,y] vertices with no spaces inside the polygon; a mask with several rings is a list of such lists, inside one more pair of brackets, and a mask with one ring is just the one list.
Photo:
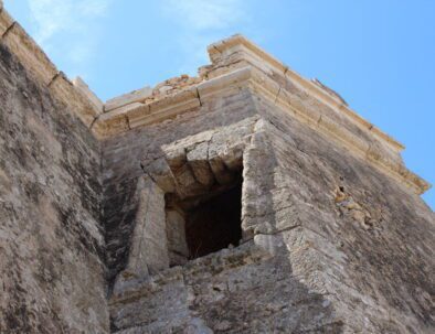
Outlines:
{"label": "mottled brown-grey wall at far left, below its cornice", "polygon": [[0,44],[0,333],[107,333],[99,144]]}

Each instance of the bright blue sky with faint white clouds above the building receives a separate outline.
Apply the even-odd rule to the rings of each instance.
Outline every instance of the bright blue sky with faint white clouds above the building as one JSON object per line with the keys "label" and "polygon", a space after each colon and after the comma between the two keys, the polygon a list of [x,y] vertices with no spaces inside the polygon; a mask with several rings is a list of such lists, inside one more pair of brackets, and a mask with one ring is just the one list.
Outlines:
{"label": "bright blue sky with faint white clouds above the building", "polygon": [[[243,33],[317,77],[406,146],[435,183],[434,0],[4,0],[70,77],[102,98],[208,63],[208,44]],[[435,208],[435,191],[425,201]]]}

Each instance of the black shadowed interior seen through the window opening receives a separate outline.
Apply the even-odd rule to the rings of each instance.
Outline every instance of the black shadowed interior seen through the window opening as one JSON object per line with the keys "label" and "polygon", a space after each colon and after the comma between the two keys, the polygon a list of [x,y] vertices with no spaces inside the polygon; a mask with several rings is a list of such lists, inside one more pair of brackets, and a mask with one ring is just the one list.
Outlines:
{"label": "black shadowed interior seen through the window opening", "polygon": [[185,211],[189,259],[238,246],[242,238],[242,182]]}

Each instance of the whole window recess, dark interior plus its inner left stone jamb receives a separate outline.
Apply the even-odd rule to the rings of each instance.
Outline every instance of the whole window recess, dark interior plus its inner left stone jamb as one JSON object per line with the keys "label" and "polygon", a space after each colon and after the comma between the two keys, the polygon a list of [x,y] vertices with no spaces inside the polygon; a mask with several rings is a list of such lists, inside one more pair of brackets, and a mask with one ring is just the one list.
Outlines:
{"label": "whole window recess, dark interior plus its inner left stone jamb", "polygon": [[180,200],[166,197],[170,266],[237,247],[242,239],[242,173],[225,186]]}

